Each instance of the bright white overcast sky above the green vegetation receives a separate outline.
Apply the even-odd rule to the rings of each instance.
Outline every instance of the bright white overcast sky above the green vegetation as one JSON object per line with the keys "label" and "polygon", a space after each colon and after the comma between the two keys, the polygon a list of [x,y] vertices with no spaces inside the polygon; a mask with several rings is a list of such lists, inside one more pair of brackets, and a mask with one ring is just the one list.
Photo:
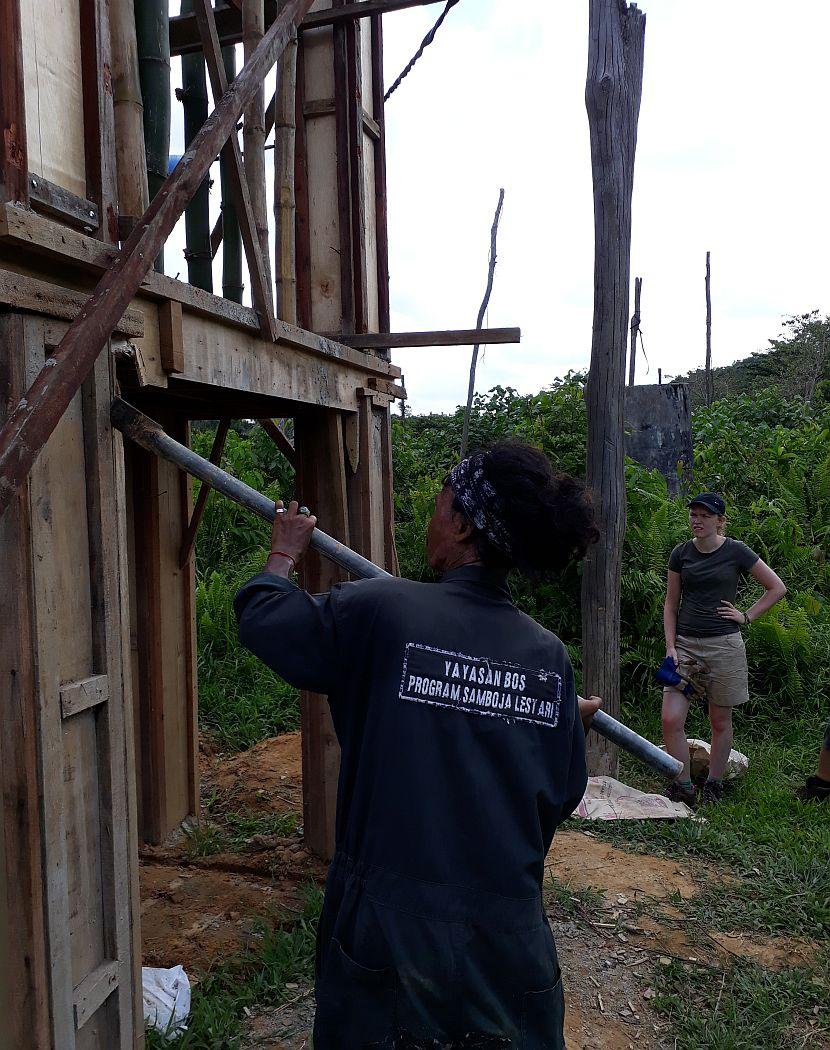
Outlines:
{"label": "bright white overcast sky above the green vegetation", "polygon": [[[638,380],[656,382],[658,368],[672,376],[703,363],[707,250],[715,365],[764,349],[787,314],[830,312],[830,3],[640,6],[647,22],[631,278],[643,277],[650,365],[646,374],[639,359]],[[474,326],[505,189],[485,323],[520,326],[522,342],[486,350],[479,391],[500,383],[531,393],[588,365],[587,7],[461,0],[387,106],[393,331]],[[385,18],[388,84],[441,9]],[[178,70],[175,62],[174,82]],[[173,153],[181,121],[174,103]],[[217,187],[211,201],[215,211]],[[177,231],[168,243],[172,274],[186,272],[183,240]],[[394,360],[414,411],[451,412],[465,399],[470,348],[397,351]]]}

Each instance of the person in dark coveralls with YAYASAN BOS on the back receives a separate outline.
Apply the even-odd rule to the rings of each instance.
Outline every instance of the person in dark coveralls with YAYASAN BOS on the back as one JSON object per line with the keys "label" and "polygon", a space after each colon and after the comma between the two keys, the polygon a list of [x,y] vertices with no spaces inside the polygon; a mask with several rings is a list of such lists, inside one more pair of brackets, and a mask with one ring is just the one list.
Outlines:
{"label": "person in dark coveralls with YAYASAN BOS on the back", "polygon": [[[590,500],[538,449],[502,443],[436,499],[438,584],[321,595],[289,579],[315,519],[277,506],[266,569],[235,610],[248,649],[328,696],[343,752],[315,1050],[564,1047],[541,886],[584,792],[584,730],[564,646],[506,579],[582,556]],[[586,720],[600,702],[583,701]]]}

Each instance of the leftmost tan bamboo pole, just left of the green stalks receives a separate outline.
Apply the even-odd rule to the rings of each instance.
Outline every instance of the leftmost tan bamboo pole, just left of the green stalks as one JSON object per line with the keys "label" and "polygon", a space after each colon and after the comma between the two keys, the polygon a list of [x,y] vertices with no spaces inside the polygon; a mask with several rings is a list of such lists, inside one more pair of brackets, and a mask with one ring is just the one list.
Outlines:
{"label": "leftmost tan bamboo pole, just left of the green stalks", "polygon": [[144,151],[144,101],[139,77],[132,0],[110,0],[109,27],[112,43],[118,208],[120,215],[134,223],[147,210],[150,196]]}

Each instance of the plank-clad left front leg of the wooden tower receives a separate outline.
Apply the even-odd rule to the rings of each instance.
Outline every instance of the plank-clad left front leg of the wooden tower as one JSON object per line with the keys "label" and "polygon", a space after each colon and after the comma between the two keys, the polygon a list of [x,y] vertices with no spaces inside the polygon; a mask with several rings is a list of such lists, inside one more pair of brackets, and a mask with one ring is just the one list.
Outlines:
{"label": "plank-clad left front leg of the wooden tower", "polygon": [[[0,360],[24,390],[65,324],[12,315],[4,328]],[[20,689],[14,664],[28,685],[2,709],[29,728],[8,766],[3,749],[0,776],[4,798],[11,789],[18,805],[33,792],[39,799],[37,825],[34,800],[20,811],[28,816],[18,816],[14,853],[6,823],[6,864],[20,879],[14,940],[26,961],[15,982],[14,1002],[26,1009],[19,1050],[131,1050],[142,1040],[110,366],[103,354],[21,490],[18,523],[3,525],[18,531],[15,593],[25,603],[18,630],[3,631],[3,691]]]}

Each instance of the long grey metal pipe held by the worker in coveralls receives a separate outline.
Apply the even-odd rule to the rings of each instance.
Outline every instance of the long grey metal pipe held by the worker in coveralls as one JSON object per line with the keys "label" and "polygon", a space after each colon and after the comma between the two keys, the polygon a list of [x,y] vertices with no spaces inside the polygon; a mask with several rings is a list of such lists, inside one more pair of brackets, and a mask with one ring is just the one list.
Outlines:
{"label": "long grey metal pipe held by the worker in coveralls", "polygon": [[[154,420],[139,412],[138,408],[133,408],[131,404],[127,404],[121,398],[116,398],[112,402],[110,418],[117,429],[141,445],[142,448],[175,463],[182,470],[186,470],[187,474],[211,485],[217,492],[227,496],[252,513],[268,522],[273,522],[276,513],[276,505],[273,500],[269,500],[267,496],[257,492],[255,488],[251,488],[221,467],[202,459],[201,456],[196,456],[186,445],[180,444],[165,434]],[[335,565],[339,565],[341,569],[346,569],[347,572],[361,580],[391,576],[391,573],[379,568],[374,562],[362,558],[318,528],[315,528],[311,533],[311,547],[334,562]],[[667,755],[650,740],[646,740],[645,737],[635,733],[627,726],[623,726],[616,718],[611,718],[604,711],[598,711],[594,715],[592,729],[666,777],[673,778],[683,769],[683,763],[679,762],[677,758]]]}

